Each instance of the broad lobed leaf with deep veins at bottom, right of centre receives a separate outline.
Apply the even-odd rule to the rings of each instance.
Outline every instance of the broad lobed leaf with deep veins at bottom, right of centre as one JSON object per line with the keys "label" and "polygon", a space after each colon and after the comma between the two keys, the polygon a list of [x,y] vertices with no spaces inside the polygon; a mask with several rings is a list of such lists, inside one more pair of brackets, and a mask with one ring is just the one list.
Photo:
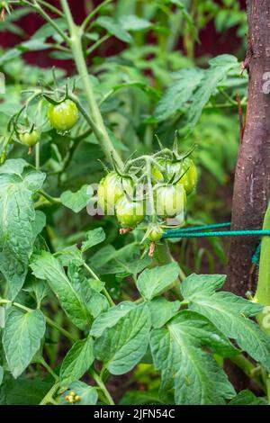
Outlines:
{"label": "broad lobed leaf with deep veins at bottom, right of centre", "polygon": [[161,392],[174,389],[177,405],[224,404],[235,394],[227,375],[202,350],[213,339],[215,349],[223,349],[224,338],[211,329],[200,315],[180,311],[166,328],[152,332],[150,347],[154,365],[162,374]]}

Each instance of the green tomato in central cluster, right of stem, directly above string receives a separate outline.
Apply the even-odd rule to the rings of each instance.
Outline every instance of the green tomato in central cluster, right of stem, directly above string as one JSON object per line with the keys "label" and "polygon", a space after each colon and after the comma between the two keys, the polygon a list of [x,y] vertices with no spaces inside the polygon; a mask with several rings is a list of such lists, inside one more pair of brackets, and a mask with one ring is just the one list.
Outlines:
{"label": "green tomato in central cluster, right of stem, directly above string", "polygon": [[155,190],[156,211],[158,216],[175,217],[184,212],[186,193],[180,184],[159,185]]}

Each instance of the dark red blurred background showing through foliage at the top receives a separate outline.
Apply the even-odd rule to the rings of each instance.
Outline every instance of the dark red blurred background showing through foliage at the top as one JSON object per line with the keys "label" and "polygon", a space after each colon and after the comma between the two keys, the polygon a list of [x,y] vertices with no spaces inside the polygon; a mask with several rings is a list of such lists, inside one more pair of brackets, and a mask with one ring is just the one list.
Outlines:
{"label": "dark red blurred background showing through foliage at the top", "polygon": [[[236,0],[241,7],[245,9],[246,0]],[[58,0],[50,0],[50,4],[58,5]],[[85,1],[83,0],[69,0],[72,14],[77,23],[81,23],[85,18]],[[102,3],[102,0],[94,0],[94,5]],[[220,0],[216,0],[216,3],[220,3]],[[42,19],[37,14],[29,14],[23,17],[20,21],[20,25],[23,27],[27,34],[31,35],[43,24]],[[216,56],[222,53],[233,53],[240,47],[241,40],[238,39],[237,29],[226,31],[226,33],[219,33],[215,30],[213,22],[208,23],[207,27],[200,33],[201,43],[196,46],[196,56]],[[21,42],[22,38],[14,35],[10,32],[0,33],[0,46],[14,47],[17,43]],[[103,49],[103,55],[111,56],[118,53],[122,49],[123,44],[119,40],[109,40],[106,42],[105,49]],[[68,67],[67,61],[61,60],[56,61],[49,58],[44,52],[34,52],[26,55],[27,60],[40,67],[48,67],[51,65],[57,65],[61,67]]]}

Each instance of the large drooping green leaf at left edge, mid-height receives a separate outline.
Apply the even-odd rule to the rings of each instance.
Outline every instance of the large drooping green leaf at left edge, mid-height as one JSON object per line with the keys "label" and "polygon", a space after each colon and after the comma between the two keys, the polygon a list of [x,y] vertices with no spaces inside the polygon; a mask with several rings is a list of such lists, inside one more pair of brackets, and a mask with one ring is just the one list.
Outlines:
{"label": "large drooping green leaf at left edge, mid-height", "polygon": [[15,298],[23,286],[36,232],[33,193],[45,174],[24,170],[24,160],[7,160],[0,167],[0,270],[7,280],[10,296]]}

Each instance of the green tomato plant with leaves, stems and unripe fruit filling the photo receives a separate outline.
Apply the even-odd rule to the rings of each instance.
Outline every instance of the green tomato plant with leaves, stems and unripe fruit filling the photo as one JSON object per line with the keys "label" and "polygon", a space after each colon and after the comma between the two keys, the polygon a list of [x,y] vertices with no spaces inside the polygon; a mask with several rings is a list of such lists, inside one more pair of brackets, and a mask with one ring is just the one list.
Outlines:
{"label": "green tomato plant with leaves, stems and unripe fruit filling the photo", "polygon": [[[24,37],[0,58],[0,404],[269,403],[268,241],[243,298],[223,288],[228,241],[172,237],[230,219],[247,72],[195,45],[228,13],[244,37],[246,14],[89,3],[80,23],[67,0],[0,5],[0,31]],[[58,67],[26,62],[37,50]]]}

